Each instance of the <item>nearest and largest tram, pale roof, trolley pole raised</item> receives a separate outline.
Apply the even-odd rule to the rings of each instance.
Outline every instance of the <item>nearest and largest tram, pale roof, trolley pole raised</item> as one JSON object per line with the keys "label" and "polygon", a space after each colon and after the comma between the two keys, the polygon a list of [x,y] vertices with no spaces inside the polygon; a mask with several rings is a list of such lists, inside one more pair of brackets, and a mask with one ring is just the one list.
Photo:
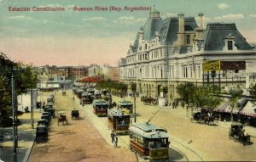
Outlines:
{"label": "nearest and largest tram, pale roof, trolley pole raised", "polygon": [[167,131],[148,123],[133,123],[130,128],[130,148],[144,159],[169,159]]}

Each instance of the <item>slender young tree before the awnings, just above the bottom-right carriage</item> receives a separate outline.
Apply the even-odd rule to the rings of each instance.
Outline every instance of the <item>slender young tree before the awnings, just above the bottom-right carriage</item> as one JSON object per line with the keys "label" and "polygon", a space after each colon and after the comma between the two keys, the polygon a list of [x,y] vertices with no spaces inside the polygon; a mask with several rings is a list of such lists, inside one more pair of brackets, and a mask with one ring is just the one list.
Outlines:
{"label": "slender young tree before the awnings, just above the bottom-right carriage", "polygon": [[231,113],[231,122],[233,121],[233,109],[236,107],[237,101],[238,99],[241,97],[242,94],[242,89],[241,87],[232,87],[229,90],[229,94],[230,94],[230,113]]}

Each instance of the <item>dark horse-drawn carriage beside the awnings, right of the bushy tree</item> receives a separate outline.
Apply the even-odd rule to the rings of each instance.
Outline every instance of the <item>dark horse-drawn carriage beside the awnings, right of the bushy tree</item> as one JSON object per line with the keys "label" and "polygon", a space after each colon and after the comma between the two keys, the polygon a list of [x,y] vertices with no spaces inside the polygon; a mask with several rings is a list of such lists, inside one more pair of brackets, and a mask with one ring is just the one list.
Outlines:
{"label": "dark horse-drawn carriage beside the awnings, right of the bushy tree", "polygon": [[191,116],[191,121],[195,120],[198,123],[203,122],[207,125],[214,125],[215,117],[208,109],[201,109],[201,111],[196,111]]}

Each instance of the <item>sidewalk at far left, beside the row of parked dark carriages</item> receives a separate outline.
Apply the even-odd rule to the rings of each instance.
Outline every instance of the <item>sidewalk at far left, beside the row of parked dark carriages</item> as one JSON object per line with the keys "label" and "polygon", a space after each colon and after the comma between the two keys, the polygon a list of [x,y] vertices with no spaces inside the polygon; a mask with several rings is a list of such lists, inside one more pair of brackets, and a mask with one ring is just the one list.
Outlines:
{"label": "sidewalk at far left, beside the row of parked dark carriages", "polygon": [[[34,109],[34,127],[37,126],[37,120],[40,116],[39,109]],[[18,147],[16,148],[16,154],[14,154],[13,148],[13,127],[1,127],[1,135],[3,135],[3,141],[0,142],[0,162],[26,162],[29,158],[34,139],[35,129],[32,129],[31,114],[24,113],[18,116],[21,125],[18,126]]]}

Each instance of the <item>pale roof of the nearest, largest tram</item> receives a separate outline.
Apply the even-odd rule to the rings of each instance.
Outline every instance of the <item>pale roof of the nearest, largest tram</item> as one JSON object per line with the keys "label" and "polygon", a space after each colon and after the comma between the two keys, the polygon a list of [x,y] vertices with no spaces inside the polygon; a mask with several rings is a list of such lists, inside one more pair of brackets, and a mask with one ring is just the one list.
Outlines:
{"label": "pale roof of the nearest, largest tram", "polygon": [[133,131],[143,137],[147,138],[166,138],[169,137],[167,131],[160,126],[154,126],[147,123],[133,123],[130,127]]}

